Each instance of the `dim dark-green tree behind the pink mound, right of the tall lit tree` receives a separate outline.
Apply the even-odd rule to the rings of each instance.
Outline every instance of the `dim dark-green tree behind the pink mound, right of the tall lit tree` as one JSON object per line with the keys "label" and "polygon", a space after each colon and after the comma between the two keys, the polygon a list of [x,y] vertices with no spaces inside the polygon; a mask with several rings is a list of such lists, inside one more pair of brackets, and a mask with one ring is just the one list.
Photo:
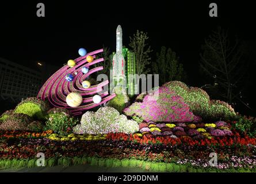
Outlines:
{"label": "dim dark-green tree behind the pink mound, right of the tall lit tree", "polygon": [[183,65],[179,62],[176,53],[166,47],[161,47],[161,52],[156,53],[156,62],[152,63],[152,71],[154,74],[159,74],[160,85],[168,81],[185,81],[186,79]]}

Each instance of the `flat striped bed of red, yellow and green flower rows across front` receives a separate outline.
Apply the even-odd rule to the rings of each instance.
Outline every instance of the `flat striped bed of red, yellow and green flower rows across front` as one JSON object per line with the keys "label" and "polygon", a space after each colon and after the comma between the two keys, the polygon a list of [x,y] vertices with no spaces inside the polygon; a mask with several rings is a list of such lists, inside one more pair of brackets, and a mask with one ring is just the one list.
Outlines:
{"label": "flat striped bed of red, yellow and green flower rows across front", "polygon": [[[47,166],[90,163],[163,172],[254,172],[256,168],[256,139],[238,133],[201,140],[125,133],[59,136],[52,131],[2,131],[0,137],[0,168],[36,166],[38,152],[45,154]],[[209,165],[211,152],[218,155],[217,167]]]}

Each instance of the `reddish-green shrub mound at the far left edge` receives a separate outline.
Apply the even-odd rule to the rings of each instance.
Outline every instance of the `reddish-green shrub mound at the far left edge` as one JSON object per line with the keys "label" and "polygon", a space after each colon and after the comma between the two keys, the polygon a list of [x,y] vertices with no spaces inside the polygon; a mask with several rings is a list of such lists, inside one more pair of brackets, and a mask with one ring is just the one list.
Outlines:
{"label": "reddish-green shrub mound at the far left edge", "polygon": [[28,131],[28,125],[32,118],[26,114],[14,113],[6,118],[0,125],[0,129],[5,131]]}

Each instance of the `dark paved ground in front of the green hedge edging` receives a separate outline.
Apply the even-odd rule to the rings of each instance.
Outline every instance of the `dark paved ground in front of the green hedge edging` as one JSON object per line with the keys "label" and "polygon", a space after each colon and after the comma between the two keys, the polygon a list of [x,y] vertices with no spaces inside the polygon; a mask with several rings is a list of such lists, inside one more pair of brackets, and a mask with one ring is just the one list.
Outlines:
{"label": "dark paved ground in front of the green hedge edging", "polygon": [[0,170],[0,173],[143,173],[148,172],[139,168],[130,167],[100,167],[89,164],[78,166],[54,166],[54,167],[33,167],[33,168],[10,168]]}

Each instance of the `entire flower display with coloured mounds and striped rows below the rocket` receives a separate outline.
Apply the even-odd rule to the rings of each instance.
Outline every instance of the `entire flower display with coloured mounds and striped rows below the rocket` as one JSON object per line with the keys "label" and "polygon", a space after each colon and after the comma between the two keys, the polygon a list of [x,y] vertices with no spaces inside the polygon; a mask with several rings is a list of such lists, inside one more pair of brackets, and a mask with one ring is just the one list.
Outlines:
{"label": "entire flower display with coloured mounds and striped rows below the rocket", "polygon": [[[239,116],[230,105],[181,82],[139,95],[124,114],[104,106],[87,111],[80,120],[66,109],[49,109],[39,101],[28,98],[16,108],[28,107],[26,114],[9,110],[0,116],[0,169],[33,167],[41,152],[47,166],[256,171],[256,118]],[[213,153],[215,166],[209,162]]]}

